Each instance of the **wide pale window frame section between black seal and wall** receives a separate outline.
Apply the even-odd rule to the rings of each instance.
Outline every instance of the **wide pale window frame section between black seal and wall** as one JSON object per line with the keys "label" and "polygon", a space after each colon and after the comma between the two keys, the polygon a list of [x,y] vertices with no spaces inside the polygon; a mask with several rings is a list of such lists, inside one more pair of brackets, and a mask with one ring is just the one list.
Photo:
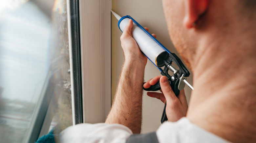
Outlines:
{"label": "wide pale window frame section between black seal and wall", "polygon": [[83,119],[104,122],[111,107],[111,1],[79,0]]}

